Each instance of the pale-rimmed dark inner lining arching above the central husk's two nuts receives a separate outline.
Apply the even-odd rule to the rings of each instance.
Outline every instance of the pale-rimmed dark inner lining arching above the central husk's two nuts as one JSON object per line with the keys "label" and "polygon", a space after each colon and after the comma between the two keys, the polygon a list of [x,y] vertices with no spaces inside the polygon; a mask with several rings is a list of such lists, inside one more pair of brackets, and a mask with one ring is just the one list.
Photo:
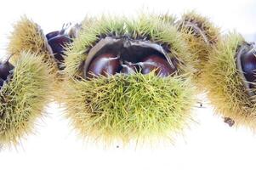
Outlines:
{"label": "pale-rimmed dark inner lining arching above the central husk's two nuts", "polygon": [[176,71],[173,60],[159,44],[150,41],[133,40],[128,37],[105,37],[88,52],[88,57],[83,66],[84,77],[88,75],[89,65],[91,65],[94,58],[101,54],[117,56],[122,65],[143,65],[140,61],[145,57],[157,55],[167,61],[170,72]]}

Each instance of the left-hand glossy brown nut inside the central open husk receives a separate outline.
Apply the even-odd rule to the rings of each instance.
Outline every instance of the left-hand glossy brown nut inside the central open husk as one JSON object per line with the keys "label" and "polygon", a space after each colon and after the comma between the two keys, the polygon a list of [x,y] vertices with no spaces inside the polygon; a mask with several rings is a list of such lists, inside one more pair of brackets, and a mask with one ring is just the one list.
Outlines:
{"label": "left-hand glossy brown nut inside the central open husk", "polygon": [[95,57],[90,65],[88,71],[84,73],[88,78],[99,76],[115,75],[121,70],[120,58],[115,54],[100,54]]}

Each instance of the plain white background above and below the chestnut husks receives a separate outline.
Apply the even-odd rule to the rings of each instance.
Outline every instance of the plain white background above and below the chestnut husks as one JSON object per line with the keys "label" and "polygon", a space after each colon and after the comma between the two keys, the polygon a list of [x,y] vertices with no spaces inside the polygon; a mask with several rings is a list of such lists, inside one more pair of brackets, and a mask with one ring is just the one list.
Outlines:
{"label": "plain white background above and below the chestnut husks", "polygon": [[[128,1],[2,1],[0,4],[0,55],[4,57],[12,24],[27,14],[45,32],[60,29],[67,21],[80,21],[86,14],[136,14],[141,8],[181,14],[186,9],[210,17],[223,31],[236,29],[249,41],[256,40],[256,2],[253,0],[128,0]],[[203,100],[207,103],[207,100]],[[37,133],[16,149],[0,151],[0,170],[9,169],[256,169],[256,136],[245,128],[230,128],[211,106],[195,108],[197,124],[176,144],[123,148],[113,144],[84,142],[72,131],[59,105],[51,104],[48,115],[37,122]],[[116,146],[119,145],[119,148]]]}

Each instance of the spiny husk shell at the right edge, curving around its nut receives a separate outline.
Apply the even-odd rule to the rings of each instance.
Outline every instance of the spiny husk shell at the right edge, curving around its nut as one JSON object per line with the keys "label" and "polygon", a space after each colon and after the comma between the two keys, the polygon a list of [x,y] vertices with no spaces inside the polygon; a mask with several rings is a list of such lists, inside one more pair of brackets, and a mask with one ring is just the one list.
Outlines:
{"label": "spiny husk shell at the right edge, curving around its nut", "polygon": [[230,117],[235,125],[255,129],[255,105],[243,86],[242,73],[236,69],[236,50],[242,43],[242,36],[236,32],[219,41],[202,70],[202,80],[217,113]]}

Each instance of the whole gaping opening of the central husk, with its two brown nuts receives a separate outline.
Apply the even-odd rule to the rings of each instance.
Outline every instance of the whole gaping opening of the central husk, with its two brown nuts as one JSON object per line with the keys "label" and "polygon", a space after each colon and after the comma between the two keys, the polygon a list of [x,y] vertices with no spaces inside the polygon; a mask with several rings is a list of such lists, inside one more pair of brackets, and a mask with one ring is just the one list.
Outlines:
{"label": "whole gaping opening of the central husk, with its two brown nuts", "polygon": [[163,51],[162,46],[151,42],[105,37],[89,51],[83,65],[83,76],[145,75],[156,71],[157,77],[168,77],[176,71],[176,66]]}

